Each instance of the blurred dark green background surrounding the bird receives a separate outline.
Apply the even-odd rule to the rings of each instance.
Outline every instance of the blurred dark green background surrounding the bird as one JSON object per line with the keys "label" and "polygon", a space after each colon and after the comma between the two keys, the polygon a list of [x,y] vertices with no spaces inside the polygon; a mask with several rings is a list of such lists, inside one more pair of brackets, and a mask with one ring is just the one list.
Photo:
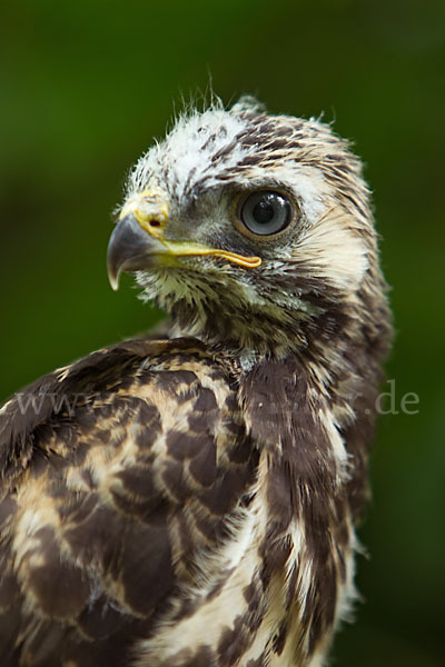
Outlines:
{"label": "blurred dark green background surrounding the bird", "polygon": [[[334,665],[444,656],[443,0],[21,0],[1,19],[0,398],[159,319],[105,256],[123,176],[174,103],[214,89],[335,120],[366,162],[397,338],[360,537],[366,600]],[[411,406],[415,409],[416,406]]]}

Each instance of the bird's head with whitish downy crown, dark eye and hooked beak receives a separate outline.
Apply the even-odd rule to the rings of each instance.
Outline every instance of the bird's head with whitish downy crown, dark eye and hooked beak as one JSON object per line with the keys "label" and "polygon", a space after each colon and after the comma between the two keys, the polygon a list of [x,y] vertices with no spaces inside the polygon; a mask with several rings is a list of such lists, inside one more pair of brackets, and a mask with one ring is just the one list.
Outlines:
{"label": "bird's head with whitish downy crown, dark eye and hooked beak", "polygon": [[384,307],[359,160],[329,126],[251,98],[180,117],[134,168],[108,249],[176,331],[307,347]]}

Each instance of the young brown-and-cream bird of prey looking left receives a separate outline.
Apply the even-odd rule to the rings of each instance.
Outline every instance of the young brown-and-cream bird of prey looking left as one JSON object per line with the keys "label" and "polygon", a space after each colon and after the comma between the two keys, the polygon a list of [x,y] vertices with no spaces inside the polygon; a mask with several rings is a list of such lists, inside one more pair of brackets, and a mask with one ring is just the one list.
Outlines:
{"label": "young brown-and-cream bird of prey looking left", "polygon": [[2,667],[319,667],[390,341],[348,143],[251,98],[137,162],[108,248],[169,329],[0,410]]}

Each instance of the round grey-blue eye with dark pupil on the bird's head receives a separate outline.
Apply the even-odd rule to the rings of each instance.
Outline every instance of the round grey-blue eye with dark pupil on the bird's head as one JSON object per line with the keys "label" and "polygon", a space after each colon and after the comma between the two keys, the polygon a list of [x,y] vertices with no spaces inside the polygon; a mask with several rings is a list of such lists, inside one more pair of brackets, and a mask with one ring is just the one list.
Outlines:
{"label": "round grey-blue eye with dark pupil on the bird's head", "polygon": [[261,190],[244,200],[240,218],[253,233],[269,236],[283,231],[289,225],[291,212],[290,202],[284,195]]}

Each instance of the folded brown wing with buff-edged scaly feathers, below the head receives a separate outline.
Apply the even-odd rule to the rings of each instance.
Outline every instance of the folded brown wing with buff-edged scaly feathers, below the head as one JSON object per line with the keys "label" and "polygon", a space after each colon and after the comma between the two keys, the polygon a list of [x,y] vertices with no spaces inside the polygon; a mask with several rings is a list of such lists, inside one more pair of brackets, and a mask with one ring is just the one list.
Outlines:
{"label": "folded brown wing with buff-edged scaly feathers, below the head", "polygon": [[123,665],[180,591],[190,613],[256,479],[234,370],[197,341],[135,340],[6,405],[2,665]]}

